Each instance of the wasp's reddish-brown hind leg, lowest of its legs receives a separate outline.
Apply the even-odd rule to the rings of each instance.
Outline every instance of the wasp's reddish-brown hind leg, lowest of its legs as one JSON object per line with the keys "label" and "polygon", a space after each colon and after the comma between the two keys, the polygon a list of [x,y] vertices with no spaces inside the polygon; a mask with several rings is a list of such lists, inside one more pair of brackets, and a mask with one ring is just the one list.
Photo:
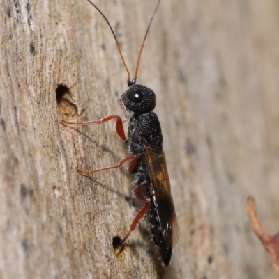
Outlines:
{"label": "wasp's reddish-brown hind leg, lowest of its legs", "polygon": [[128,231],[126,236],[121,240],[120,244],[123,244],[123,242],[126,241],[126,239],[128,239],[131,232],[133,232],[133,230],[135,230],[137,223],[139,223],[140,219],[142,218],[142,216],[144,216],[146,210],[149,208],[149,205],[150,205],[150,196],[144,186],[138,185],[135,188],[134,193],[135,193],[136,198],[138,198],[139,200],[145,201],[145,205],[144,205],[144,207],[142,207],[142,209],[140,209],[140,212],[137,214],[137,216],[135,216],[133,223],[130,224],[130,230]]}

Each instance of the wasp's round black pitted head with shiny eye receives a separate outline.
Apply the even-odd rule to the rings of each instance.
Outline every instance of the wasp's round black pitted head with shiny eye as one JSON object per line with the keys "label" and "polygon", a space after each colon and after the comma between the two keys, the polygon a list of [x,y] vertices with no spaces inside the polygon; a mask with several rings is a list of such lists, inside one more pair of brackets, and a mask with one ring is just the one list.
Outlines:
{"label": "wasp's round black pitted head with shiny eye", "polygon": [[149,113],[156,106],[156,96],[151,89],[141,84],[134,84],[123,95],[123,104],[133,113]]}

